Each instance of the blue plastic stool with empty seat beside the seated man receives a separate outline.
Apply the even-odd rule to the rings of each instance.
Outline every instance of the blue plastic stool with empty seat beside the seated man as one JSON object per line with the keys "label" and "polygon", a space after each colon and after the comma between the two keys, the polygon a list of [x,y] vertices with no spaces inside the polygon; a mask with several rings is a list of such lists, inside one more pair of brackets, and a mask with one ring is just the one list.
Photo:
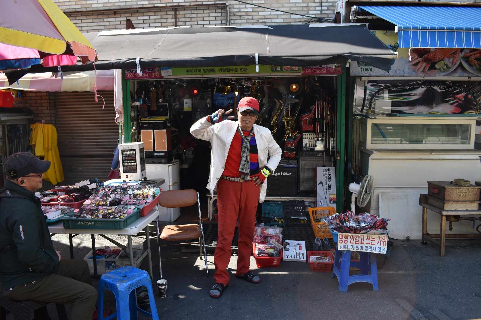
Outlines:
{"label": "blue plastic stool with empty seat beside the seated man", "polygon": [[[137,307],[135,289],[142,285],[145,285],[149,292],[152,313]],[[103,274],[99,281],[99,310],[103,310],[103,289],[108,289],[114,293],[117,312],[107,318],[104,318],[103,313],[99,312],[99,320],[110,320],[114,317],[117,317],[117,320],[137,320],[139,319],[138,311],[153,320],[159,320],[151,278],[146,271],[127,266]]]}

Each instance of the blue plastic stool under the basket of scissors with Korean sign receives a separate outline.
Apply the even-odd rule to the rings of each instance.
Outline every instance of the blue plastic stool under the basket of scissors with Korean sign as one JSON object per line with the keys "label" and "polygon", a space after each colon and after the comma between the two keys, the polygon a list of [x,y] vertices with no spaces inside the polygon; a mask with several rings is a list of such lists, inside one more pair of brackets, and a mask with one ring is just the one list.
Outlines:
{"label": "blue plastic stool under the basket of scissors with Korean sign", "polygon": [[[374,291],[379,290],[378,286],[378,267],[376,255],[370,252],[359,252],[360,261],[351,261],[353,251],[339,251],[336,248],[334,255],[334,266],[332,267],[332,278],[336,275],[339,281],[339,291],[347,292],[347,286],[356,282],[372,283]],[[340,261],[341,260],[341,261]],[[370,263],[369,263],[370,260]],[[349,275],[349,268],[355,267],[361,270],[361,274]],[[371,274],[369,274],[369,271]]]}

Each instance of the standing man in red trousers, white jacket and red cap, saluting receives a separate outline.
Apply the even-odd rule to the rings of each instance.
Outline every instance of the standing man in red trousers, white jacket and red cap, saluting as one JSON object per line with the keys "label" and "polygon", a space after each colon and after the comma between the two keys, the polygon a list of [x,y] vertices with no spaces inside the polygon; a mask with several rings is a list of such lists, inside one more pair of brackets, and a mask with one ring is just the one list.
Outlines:
{"label": "standing man in red trousers, white jacket and red cap, saluting", "polygon": [[[276,170],[282,150],[269,129],[254,124],[259,113],[255,98],[245,97],[237,108],[239,121],[222,121],[222,109],[192,125],[190,133],[212,144],[207,188],[217,188],[218,235],[214,254],[215,284],[210,295],[218,298],[229,282],[232,238],[239,217],[239,255],[236,278],[250,283],[261,279],[249,269],[257,201],[266,197],[266,178]],[[228,119],[234,118],[228,116]],[[267,160],[267,156],[270,156]]]}

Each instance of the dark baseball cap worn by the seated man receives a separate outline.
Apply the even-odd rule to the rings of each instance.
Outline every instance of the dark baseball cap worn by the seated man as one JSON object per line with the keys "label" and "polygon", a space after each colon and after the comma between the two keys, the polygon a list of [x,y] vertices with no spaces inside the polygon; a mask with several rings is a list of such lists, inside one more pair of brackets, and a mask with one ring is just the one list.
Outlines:
{"label": "dark baseball cap worn by the seated man", "polygon": [[40,160],[30,152],[17,152],[5,160],[3,167],[11,179],[18,179],[30,173],[46,172],[50,168],[50,161]]}

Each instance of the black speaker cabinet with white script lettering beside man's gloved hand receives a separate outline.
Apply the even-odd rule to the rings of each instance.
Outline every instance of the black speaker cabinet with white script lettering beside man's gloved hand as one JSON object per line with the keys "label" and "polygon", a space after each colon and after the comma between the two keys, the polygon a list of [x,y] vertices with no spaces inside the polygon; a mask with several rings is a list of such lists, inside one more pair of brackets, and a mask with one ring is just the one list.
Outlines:
{"label": "black speaker cabinet with white script lettering beside man's gloved hand", "polygon": [[267,177],[267,196],[296,197],[297,174],[297,165],[279,164],[276,172]]}

